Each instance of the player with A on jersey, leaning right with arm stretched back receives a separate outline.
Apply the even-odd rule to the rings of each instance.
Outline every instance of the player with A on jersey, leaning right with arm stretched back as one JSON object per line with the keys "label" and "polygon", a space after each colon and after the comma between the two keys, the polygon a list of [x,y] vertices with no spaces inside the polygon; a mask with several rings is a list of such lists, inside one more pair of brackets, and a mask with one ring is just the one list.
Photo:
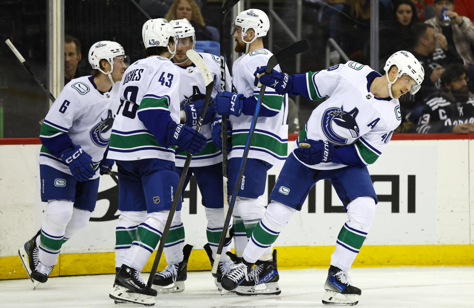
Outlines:
{"label": "player with A on jersey, leaning right with arm stretched back", "polygon": [[270,194],[272,201],[245,247],[242,263],[222,278],[222,286],[232,290],[244,280],[265,247],[275,242],[290,217],[301,210],[313,185],[329,179],[349,220],[331,255],[322,302],[356,305],[361,290],[352,285],[348,271],[372,225],[377,204],[366,165],[382,154],[400,124],[398,98],[420,89],[423,67],[411,53],[398,51],[387,60],[384,76],[354,61],[293,76],[277,71],[263,75],[265,69],[255,72],[255,84],[260,81],[281,94],[327,100],[313,111],[301,131]]}

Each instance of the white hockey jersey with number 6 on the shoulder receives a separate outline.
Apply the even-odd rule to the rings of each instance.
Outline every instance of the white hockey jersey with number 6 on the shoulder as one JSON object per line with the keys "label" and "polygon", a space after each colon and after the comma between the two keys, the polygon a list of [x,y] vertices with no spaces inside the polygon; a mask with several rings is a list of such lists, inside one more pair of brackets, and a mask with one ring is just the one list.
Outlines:
{"label": "white hockey jersey with number 6 on the shoulder", "polygon": [[[64,86],[44,118],[40,138],[57,138],[67,133],[73,144],[80,145],[92,157],[95,179],[99,176],[99,163],[109,145],[113,115],[118,108],[119,83],[114,84],[109,92],[101,93],[95,88],[93,78],[79,77]],[[50,150],[61,150],[53,150],[52,147],[54,143]],[[68,165],[51,154],[44,145],[40,151],[40,164],[71,174]]]}

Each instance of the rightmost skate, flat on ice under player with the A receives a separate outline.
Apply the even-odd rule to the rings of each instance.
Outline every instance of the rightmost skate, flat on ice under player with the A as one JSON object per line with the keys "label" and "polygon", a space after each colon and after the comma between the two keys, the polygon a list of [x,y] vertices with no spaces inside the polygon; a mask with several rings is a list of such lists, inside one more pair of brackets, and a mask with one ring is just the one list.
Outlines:
{"label": "rightmost skate, flat on ice under player with the A", "polygon": [[362,294],[359,288],[352,285],[351,277],[346,271],[332,265],[329,267],[324,289],[326,290],[322,297],[324,305],[354,306]]}

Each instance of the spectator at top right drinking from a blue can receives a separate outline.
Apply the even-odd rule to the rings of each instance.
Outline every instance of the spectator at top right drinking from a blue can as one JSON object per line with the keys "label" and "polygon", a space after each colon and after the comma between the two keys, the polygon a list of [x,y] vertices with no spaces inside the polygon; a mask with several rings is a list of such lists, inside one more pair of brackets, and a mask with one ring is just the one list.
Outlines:
{"label": "spectator at top right drinking from a blue can", "polygon": [[[441,11],[447,8],[445,14],[451,19],[451,24],[445,26],[441,17]],[[435,33],[443,34],[447,44],[453,52],[464,60],[468,67],[468,76],[474,79],[474,25],[468,17],[459,16],[454,11],[453,0],[435,0],[436,16],[425,21],[435,28]]]}

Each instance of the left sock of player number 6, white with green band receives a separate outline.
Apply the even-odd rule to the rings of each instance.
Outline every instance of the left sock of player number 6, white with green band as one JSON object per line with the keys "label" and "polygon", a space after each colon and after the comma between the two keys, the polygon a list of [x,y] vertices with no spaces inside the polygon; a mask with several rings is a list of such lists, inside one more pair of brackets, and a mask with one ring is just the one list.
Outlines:
{"label": "left sock of player number 6, white with green band", "polygon": [[46,266],[58,263],[59,251],[64,239],[64,232],[73,215],[74,202],[69,200],[49,200],[41,223],[40,262]]}

